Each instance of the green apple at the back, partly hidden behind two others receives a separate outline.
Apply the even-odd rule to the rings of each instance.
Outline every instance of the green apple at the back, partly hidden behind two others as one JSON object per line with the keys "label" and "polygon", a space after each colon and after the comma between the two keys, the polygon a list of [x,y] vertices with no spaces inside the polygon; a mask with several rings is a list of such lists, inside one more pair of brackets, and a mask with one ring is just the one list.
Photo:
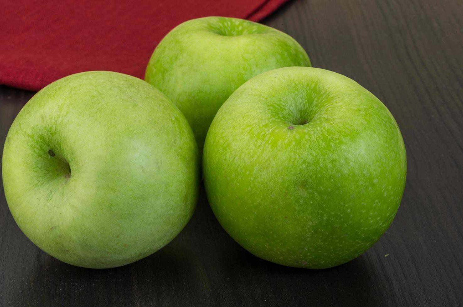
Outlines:
{"label": "green apple at the back, partly hidden behind two others", "polygon": [[154,50],[145,81],[175,103],[202,152],[207,129],[225,100],[245,81],[275,68],[310,66],[291,36],[244,19],[192,19]]}

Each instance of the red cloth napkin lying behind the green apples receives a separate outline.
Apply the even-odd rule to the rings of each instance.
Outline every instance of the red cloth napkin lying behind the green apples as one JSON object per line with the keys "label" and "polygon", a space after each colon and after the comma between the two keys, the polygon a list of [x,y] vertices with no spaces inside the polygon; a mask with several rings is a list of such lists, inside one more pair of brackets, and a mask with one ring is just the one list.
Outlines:
{"label": "red cloth napkin lying behind the green apples", "polygon": [[75,72],[144,78],[157,43],[205,16],[260,20],[286,0],[2,0],[0,84],[26,90]]}

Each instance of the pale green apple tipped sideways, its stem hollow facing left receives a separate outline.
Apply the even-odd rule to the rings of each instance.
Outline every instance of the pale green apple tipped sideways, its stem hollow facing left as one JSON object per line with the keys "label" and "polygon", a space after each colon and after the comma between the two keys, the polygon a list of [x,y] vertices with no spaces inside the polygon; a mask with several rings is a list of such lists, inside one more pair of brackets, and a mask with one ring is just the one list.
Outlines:
{"label": "pale green apple tipped sideways, its stem hollow facing left", "polygon": [[46,86],[3,151],[8,206],[25,235],[71,265],[110,268],[169,243],[200,184],[188,122],[159,90],[116,72]]}

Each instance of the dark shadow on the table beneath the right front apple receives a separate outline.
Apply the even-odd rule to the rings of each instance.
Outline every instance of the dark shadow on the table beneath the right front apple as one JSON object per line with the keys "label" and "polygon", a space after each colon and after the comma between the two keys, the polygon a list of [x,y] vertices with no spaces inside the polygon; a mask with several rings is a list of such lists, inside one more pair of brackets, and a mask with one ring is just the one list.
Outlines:
{"label": "dark shadow on the table beneath the right front apple", "polygon": [[[378,278],[366,255],[330,269],[309,270],[259,259],[236,244],[224,259],[229,285],[240,297],[258,297],[267,305],[383,306],[376,295]],[[247,284],[248,286],[243,286]],[[265,287],[264,285],[270,285]]]}

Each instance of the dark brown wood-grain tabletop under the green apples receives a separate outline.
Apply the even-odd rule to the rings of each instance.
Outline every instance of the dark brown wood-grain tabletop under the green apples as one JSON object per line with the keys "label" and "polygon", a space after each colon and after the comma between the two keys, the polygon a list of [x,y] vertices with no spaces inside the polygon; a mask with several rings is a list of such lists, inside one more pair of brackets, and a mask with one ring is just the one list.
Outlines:
{"label": "dark brown wood-grain tabletop under the green apples", "polygon": [[[299,41],[313,66],[362,84],[397,120],[407,186],[381,240],[332,269],[275,265],[221,229],[202,191],[161,251],[83,269],[35,247],[2,190],[1,306],[463,306],[463,1],[295,0],[263,23]],[[32,95],[0,87],[0,144]]]}

